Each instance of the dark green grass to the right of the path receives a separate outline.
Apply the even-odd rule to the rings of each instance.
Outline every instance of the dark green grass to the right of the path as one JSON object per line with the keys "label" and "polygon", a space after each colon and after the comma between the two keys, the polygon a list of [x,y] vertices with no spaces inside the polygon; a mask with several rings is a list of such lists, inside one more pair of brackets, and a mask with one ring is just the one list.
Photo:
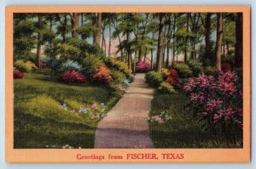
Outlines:
{"label": "dark green grass to the right of the path", "polygon": [[177,91],[172,94],[155,93],[150,117],[171,115],[172,119],[164,123],[149,122],[150,137],[155,148],[232,148],[230,145],[214,141],[214,134],[201,129],[201,122],[185,106],[186,95]]}

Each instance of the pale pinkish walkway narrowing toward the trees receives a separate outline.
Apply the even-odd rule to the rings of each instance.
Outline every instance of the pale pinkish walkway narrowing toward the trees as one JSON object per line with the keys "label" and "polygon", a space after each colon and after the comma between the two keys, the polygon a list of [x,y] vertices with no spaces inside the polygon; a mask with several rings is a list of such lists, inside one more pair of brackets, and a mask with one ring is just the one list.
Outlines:
{"label": "pale pinkish walkway narrowing toward the trees", "polygon": [[122,99],[99,122],[95,148],[153,148],[148,131],[148,113],[154,89],[137,74]]}

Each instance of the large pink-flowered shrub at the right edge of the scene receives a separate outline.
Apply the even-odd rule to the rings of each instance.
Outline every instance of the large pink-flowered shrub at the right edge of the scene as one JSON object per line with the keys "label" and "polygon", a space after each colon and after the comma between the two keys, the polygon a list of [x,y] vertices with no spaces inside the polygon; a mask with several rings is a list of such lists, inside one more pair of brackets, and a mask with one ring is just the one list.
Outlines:
{"label": "large pink-flowered shrub at the right edge of the scene", "polygon": [[201,74],[190,78],[183,89],[191,110],[215,132],[225,134],[229,142],[236,142],[242,127],[242,92],[236,72],[221,71],[218,77]]}

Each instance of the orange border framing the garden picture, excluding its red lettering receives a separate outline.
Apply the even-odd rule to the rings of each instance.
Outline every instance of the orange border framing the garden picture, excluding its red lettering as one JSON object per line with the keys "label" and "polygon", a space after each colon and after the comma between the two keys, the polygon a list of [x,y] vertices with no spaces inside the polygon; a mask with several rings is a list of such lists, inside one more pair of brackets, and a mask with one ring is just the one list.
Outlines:
{"label": "orange border framing the garden picture, excluding its red lettering", "polygon": [[[66,12],[242,12],[243,13],[243,149],[13,149],[14,144],[14,81],[13,81],[13,14]],[[14,6],[6,7],[5,21],[5,161],[40,163],[183,163],[183,162],[250,162],[251,154],[251,28],[249,6]],[[183,160],[90,160],[79,161],[82,155],[123,155],[127,153],[183,153]]]}

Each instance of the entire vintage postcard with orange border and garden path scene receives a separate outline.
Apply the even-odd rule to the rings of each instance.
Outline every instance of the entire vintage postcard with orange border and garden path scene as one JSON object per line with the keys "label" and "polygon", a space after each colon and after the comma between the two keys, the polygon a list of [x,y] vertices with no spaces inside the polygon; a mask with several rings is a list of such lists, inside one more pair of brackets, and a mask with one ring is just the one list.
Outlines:
{"label": "entire vintage postcard with orange border and garden path scene", "polygon": [[6,162],[250,162],[248,6],[6,8]]}

